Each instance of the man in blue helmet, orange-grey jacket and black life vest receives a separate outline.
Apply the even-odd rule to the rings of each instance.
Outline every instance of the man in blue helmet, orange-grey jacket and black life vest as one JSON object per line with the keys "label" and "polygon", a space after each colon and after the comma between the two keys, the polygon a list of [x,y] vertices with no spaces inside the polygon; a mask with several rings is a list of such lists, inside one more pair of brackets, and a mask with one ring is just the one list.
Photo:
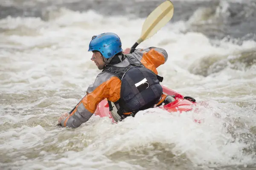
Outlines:
{"label": "man in blue helmet, orange-grey jacket and black life vest", "polygon": [[166,100],[160,85],[163,77],[156,69],[168,58],[164,49],[149,47],[127,54],[130,48],[122,50],[118,35],[103,33],[92,37],[88,51],[93,52],[91,60],[102,72],[74,111],[58,119],[62,127],[79,127],[87,122],[103,99],[108,99],[110,109],[116,108],[121,119]]}

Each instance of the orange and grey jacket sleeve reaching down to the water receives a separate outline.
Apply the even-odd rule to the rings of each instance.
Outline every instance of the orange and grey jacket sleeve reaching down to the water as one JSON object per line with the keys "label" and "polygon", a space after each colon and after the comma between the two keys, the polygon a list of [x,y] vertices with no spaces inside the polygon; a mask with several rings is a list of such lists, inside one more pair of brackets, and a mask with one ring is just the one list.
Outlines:
{"label": "orange and grey jacket sleeve reaching down to the water", "polygon": [[102,72],[87,89],[87,95],[76,109],[61,122],[62,127],[79,127],[87,122],[103,99],[116,102],[120,98],[121,81],[110,73]]}

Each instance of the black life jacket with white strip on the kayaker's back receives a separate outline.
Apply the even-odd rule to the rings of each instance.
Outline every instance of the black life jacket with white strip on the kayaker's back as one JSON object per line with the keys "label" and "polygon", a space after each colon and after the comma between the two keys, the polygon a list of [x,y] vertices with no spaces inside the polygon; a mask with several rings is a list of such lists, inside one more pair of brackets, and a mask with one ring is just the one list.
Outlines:
{"label": "black life jacket with white strip on the kayaker's back", "polygon": [[[153,71],[145,68],[144,65],[133,56],[126,56],[129,65],[126,67],[117,67],[115,65],[106,65],[104,72],[114,74],[121,80],[120,99],[115,102],[119,104],[117,113],[124,119],[123,113],[131,112],[132,116],[138,111],[145,110],[154,106],[163,94],[163,88],[160,82],[163,77],[154,74]],[[111,102],[108,101],[110,111]]]}

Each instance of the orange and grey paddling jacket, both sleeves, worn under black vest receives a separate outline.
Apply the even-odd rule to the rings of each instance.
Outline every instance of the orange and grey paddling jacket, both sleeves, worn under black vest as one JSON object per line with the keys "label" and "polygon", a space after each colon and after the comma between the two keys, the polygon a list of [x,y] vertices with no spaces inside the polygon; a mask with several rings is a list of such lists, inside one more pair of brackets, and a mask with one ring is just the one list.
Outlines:
{"label": "orange and grey paddling jacket, both sleeves, worn under black vest", "polygon": [[[157,67],[164,64],[168,58],[167,52],[162,48],[137,49],[132,54],[126,54],[122,62],[115,64],[116,67],[128,66],[131,62],[140,62],[145,68],[150,69],[155,74]],[[96,80],[87,88],[87,95],[79,102],[76,109],[62,120],[62,127],[79,127],[87,122],[95,112],[99,102],[107,98],[111,102],[120,99],[121,80],[114,74],[101,72]]]}

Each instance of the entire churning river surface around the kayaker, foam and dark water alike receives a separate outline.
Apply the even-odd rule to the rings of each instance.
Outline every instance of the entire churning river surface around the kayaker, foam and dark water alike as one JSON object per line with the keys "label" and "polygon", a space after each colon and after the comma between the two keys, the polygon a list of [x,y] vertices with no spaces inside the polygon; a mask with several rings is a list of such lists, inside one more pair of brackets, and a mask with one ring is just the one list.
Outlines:
{"label": "entire churning river surface around the kayaker, foam and dark water alike", "polygon": [[56,126],[100,72],[91,37],[115,32],[131,47],[162,2],[0,2],[0,169],[256,170],[252,0],[174,0],[172,20],[139,45],[166,49],[162,85],[204,104],[197,112],[152,108],[118,124],[93,115],[77,129]]}

